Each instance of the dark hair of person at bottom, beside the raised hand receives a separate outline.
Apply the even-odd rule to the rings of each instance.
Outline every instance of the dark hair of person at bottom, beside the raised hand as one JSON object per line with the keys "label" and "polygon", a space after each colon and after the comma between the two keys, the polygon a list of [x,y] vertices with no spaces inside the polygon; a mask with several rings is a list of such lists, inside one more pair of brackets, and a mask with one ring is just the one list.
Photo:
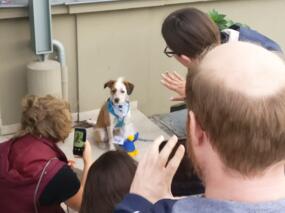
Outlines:
{"label": "dark hair of person at bottom, beside the raised hand", "polygon": [[129,193],[137,162],[123,151],[109,151],[90,167],[80,213],[112,213]]}

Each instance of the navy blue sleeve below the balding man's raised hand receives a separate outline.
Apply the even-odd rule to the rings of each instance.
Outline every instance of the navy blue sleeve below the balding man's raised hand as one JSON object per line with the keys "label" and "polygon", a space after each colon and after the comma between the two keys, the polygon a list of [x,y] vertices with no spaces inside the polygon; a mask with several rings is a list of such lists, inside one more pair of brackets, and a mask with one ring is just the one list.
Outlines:
{"label": "navy blue sleeve below the balding man's raised hand", "polygon": [[128,194],[124,197],[123,201],[116,206],[114,213],[171,213],[175,202],[176,200],[163,199],[152,204],[139,195]]}

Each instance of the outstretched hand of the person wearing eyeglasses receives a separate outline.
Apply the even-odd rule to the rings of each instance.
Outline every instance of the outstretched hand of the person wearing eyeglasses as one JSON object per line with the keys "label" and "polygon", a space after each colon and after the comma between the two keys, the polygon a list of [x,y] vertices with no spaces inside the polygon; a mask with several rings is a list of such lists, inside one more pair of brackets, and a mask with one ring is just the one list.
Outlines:
{"label": "outstretched hand of the person wearing eyeglasses", "polygon": [[168,89],[177,93],[176,97],[171,97],[172,101],[184,101],[186,81],[177,72],[166,72],[161,74],[161,83]]}

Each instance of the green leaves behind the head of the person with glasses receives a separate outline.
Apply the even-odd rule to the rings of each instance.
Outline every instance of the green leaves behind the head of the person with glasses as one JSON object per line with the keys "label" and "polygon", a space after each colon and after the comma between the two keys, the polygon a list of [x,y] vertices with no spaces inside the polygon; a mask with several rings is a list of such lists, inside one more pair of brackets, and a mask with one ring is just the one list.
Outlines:
{"label": "green leaves behind the head of the person with glasses", "polygon": [[245,24],[234,22],[231,19],[227,19],[225,14],[219,13],[217,10],[213,9],[208,12],[209,17],[218,25],[220,30],[229,28],[230,26],[236,24],[243,27],[248,27]]}

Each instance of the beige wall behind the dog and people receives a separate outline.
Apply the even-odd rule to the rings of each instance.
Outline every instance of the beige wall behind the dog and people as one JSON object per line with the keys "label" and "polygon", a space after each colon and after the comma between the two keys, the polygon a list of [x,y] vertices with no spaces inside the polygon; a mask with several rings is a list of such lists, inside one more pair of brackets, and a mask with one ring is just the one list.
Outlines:
{"label": "beige wall behind the dog and people", "polygon": [[[171,93],[159,83],[160,74],[177,70],[185,75],[186,69],[162,53],[165,43],[160,28],[164,17],[181,7],[215,8],[285,47],[284,0],[180,0],[180,4],[147,6],[162,1],[149,2],[129,1],[124,7],[129,4],[133,8],[128,9],[118,9],[119,4],[53,7],[53,36],[66,48],[74,112],[77,101],[81,112],[100,107],[108,95],[104,82],[118,76],[135,83],[132,99],[138,100],[145,114],[167,112],[173,103],[168,100]],[[35,59],[25,16],[23,9],[9,13],[0,9],[0,110],[4,125],[19,122],[19,104],[26,94],[25,66]]]}

